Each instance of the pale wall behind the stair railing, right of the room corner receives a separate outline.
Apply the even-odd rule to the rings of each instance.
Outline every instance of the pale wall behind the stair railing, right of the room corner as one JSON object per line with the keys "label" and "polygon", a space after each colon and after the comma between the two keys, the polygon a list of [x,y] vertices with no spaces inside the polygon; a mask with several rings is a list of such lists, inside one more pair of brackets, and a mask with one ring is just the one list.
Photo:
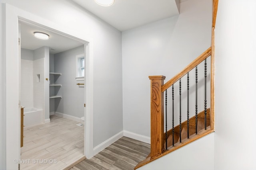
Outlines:
{"label": "pale wall behind the stair railing, right of the room corner", "polygon": [[125,131],[150,137],[148,76],[164,75],[168,81],[210,47],[211,12],[212,0],[189,0],[180,3],[179,16],[122,33]]}

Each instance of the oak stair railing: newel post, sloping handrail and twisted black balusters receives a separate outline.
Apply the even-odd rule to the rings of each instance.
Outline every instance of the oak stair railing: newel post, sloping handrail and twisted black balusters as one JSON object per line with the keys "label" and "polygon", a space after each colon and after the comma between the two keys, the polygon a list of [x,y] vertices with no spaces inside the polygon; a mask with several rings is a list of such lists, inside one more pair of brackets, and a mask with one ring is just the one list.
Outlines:
{"label": "oak stair railing: newel post, sloping handrail and twisted black balusters", "polygon": [[[169,135],[172,133],[172,145],[174,146],[174,83],[179,81],[179,136],[180,136],[180,143],[182,142],[182,119],[181,119],[181,78],[187,75],[187,90],[189,90],[189,72],[196,68],[196,134],[197,131],[197,122],[198,122],[198,108],[197,108],[197,89],[198,89],[198,64],[202,63],[204,61],[204,84],[205,84],[205,100],[204,100],[204,129],[206,129],[206,59],[211,55],[211,48],[207,49],[202,55],[200,55],[198,58],[196,58],[192,63],[190,63],[186,68],[184,68],[180,73],[178,73],[176,76],[174,76],[172,79],[170,79],[168,82],[164,84],[165,76],[149,76],[151,80],[151,152],[150,152],[150,159],[154,159],[156,156],[159,156],[164,152],[164,150],[168,149],[167,146],[167,139]],[[211,63],[212,64],[212,63]],[[210,86],[212,84],[210,83]],[[172,129],[171,131],[167,131],[167,89],[172,87]],[[164,95],[165,92],[165,95]],[[188,92],[189,94],[189,92]],[[165,96],[165,101],[164,101]],[[189,97],[187,97],[189,100]],[[188,101],[189,103],[189,101]],[[164,104],[165,109],[164,110]],[[189,106],[188,106],[189,108]],[[164,112],[165,112],[165,133],[164,133]],[[189,111],[187,111],[189,113]],[[212,113],[213,114],[213,113]],[[214,115],[210,115],[210,117],[213,117]],[[187,115],[187,132],[188,132],[188,138],[190,136],[189,134],[189,115]],[[213,127],[211,127],[213,129]],[[164,146],[164,143],[166,144]]]}

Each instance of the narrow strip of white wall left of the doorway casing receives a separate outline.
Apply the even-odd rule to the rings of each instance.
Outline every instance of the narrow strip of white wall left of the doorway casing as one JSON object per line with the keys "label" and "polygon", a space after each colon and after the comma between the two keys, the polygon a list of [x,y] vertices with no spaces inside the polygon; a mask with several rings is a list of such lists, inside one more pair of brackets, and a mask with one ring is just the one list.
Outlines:
{"label": "narrow strip of white wall left of the doorway casing", "polygon": [[0,128],[0,169],[6,169],[6,93],[5,93],[5,58],[4,56],[4,7],[0,4],[0,124],[2,128]]}

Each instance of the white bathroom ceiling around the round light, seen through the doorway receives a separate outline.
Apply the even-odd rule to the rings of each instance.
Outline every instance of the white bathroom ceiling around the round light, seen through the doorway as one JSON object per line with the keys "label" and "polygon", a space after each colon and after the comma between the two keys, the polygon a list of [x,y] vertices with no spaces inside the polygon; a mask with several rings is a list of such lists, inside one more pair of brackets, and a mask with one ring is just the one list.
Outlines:
{"label": "white bathroom ceiling around the round light, seen through the doorway", "polygon": [[[48,29],[35,25],[28,25],[20,22],[20,28],[21,48],[23,49],[35,50],[42,46],[47,46],[50,47],[50,54],[56,54],[83,45],[74,39],[59,35],[49,31]],[[47,33],[50,35],[50,39],[43,40],[34,37],[34,32],[36,31]]]}

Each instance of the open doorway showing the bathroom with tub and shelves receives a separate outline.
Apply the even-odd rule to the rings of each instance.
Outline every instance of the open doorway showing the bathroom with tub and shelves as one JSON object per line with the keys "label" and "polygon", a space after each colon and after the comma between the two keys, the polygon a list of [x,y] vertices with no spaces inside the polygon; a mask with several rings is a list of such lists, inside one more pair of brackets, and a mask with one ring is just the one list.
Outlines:
{"label": "open doorway showing the bathroom with tub and shelves", "polygon": [[[65,168],[86,154],[87,122],[76,124],[87,116],[89,43],[24,19],[19,20],[19,30],[19,99],[26,110],[20,160],[39,161],[20,162],[21,168]],[[50,39],[36,39],[33,33],[38,31],[46,32]],[[77,55],[84,56],[79,78]]]}

